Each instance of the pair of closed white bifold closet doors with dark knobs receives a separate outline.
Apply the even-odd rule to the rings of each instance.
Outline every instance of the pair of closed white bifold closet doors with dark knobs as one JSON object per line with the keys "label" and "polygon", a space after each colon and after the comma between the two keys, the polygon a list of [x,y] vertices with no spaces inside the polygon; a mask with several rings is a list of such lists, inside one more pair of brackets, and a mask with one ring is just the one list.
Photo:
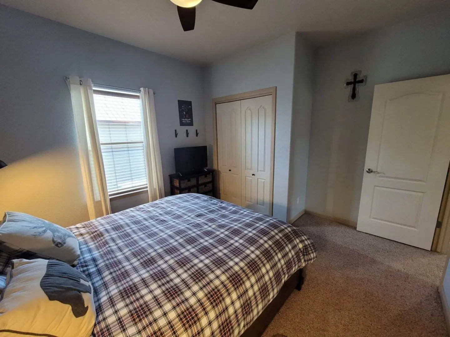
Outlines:
{"label": "pair of closed white bifold closet doors with dark knobs", "polygon": [[216,105],[220,198],[271,214],[272,95]]}

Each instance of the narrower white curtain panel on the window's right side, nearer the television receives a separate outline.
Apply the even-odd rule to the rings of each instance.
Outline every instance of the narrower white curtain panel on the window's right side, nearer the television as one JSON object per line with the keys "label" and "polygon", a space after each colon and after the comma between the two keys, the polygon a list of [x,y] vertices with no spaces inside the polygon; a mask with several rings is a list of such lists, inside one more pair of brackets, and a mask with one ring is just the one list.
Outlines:
{"label": "narrower white curtain panel on the window's right side, nearer the television", "polygon": [[144,155],[147,167],[148,199],[150,202],[164,198],[162,180],[161,151],[159,150],[158,130],[153,90],[140,89],[142,126],[144,129]]}

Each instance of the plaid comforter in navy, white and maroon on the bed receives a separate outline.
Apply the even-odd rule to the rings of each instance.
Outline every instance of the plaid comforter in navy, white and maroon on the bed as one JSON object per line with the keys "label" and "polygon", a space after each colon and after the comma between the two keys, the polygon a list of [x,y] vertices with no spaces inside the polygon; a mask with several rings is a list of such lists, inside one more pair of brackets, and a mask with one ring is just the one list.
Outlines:
{"label": "plaid comforter in navy, white and maroon on the bed", "polygon": [[199,194],[69,229],[94,288],[95,337],[240,336],[316,257],[299,229]]}

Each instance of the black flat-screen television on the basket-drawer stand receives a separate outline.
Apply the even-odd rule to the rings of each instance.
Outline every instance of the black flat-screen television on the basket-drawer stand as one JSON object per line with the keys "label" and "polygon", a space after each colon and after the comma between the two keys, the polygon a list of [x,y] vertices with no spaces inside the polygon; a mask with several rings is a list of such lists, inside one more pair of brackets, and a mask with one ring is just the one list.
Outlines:
{"label": "black flat-screen television on the basket-drawer stand", "polygon": [[175,171],[190,172],[208,167],[208,147],[178,147],[175,152]]}

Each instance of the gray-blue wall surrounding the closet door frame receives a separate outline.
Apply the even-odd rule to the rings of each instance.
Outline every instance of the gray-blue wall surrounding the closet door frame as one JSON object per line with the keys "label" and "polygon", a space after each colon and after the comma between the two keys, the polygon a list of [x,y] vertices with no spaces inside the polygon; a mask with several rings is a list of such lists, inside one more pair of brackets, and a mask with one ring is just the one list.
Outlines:
{"label": "gray-blue wall surrounding the closet door frame", "polygon": [[274,216],[282,220],[287,216],[294,54],[295,34],[292,33],[214,62],[205,71],[205,83],[210,87],[205,95],[210,147],[213,143],[211,98],[277,87]]}

